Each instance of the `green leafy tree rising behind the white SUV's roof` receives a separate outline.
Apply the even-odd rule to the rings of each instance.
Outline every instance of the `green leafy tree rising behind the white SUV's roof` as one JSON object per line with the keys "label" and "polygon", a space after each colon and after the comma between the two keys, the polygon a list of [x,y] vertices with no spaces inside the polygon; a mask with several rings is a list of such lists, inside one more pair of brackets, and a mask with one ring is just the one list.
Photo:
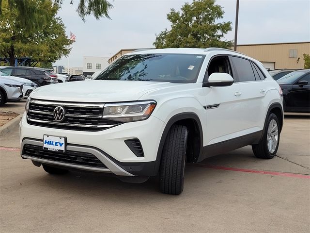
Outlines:
{"label": "green leafy tree rising behind the white SUV's roof", "polygon": [[232,41],[221,41],[224,34],[232,30],[232,22],[216,22],[223,18],[224,11],[215,0],[194,0],[185,3],[181,12],[171,9],[167,19],[171,30],[167,28],[156,35],[153,43],[156,48],[228,48]]}

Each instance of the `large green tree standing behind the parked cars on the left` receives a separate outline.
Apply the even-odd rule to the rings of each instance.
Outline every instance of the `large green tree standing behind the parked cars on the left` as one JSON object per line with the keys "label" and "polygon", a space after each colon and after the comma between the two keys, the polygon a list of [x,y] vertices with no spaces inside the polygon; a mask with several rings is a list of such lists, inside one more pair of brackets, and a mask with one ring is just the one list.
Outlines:
{"label": "large green tree standing behind the parked cars on the left", "polygon": [[9,58],[10,66],[16,57],[31,57],[46,63],[55,62],[70,53],[72,41],[65,34],[60,17],[56,17],[59,6],[51,0],[25,0],[27,9],[35,12],[35,17],[27,18],[33,25],[25,27],[18,4],[2,0],[0,17],[0,56]]}

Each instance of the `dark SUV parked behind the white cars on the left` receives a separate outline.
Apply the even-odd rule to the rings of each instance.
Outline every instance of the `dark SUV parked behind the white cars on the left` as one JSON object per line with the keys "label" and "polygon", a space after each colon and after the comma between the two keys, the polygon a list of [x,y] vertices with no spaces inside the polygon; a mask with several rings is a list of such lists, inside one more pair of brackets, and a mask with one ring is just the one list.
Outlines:
{"label": "dark SUV parked behind the white cars on the left", "polygon": [[57,76],[53,77],[50,69],[38,67],[6,67],[0,69],[2,72],[24,79],[31,80],[39,86],[44,86],[53,83],[58,83]]}

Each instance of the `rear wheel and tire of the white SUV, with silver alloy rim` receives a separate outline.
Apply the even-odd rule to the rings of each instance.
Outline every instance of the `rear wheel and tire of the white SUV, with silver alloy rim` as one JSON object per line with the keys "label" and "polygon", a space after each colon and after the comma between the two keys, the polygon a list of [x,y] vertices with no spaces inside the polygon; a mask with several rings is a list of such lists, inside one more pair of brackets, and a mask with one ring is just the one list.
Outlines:
{"label": "rear wheel and tire of the white SUV, with silver alloy rim", "polygon": [[271,113],[264,127],[261,141],[257,145],[252,145],[254,155],[261,159],[272,159],[278,151],[279,141],[279,119]]}

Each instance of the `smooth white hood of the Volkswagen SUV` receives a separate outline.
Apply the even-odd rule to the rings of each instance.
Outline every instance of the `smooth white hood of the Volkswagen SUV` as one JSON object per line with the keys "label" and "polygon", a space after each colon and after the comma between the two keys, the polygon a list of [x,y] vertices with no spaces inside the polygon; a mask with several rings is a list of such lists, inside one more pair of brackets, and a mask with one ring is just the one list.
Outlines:
{"label": "smooth white hood of the Volkswagen SUV", "polygon": [[31,92],[39,100],[73,102],[121,102],[139,100],[147,92],[177,86],[178,83],[93,80],[50,84]]}

